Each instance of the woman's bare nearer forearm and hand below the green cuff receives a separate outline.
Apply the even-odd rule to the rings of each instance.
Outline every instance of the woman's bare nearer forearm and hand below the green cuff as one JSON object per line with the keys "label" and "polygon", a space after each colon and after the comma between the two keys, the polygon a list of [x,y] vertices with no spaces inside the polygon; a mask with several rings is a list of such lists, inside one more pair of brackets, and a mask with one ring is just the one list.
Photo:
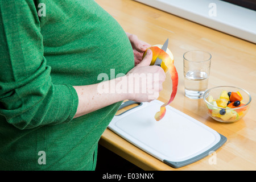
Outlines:
{"label": "woman's bare nearer forearm and hand below the green cuff", "polygon": [[[125,76],[106,81],[108,82],[107,85],[110,85],[110,88],[112,85],[118,86],[117,88],[113,88],[116,91],[114,93],[100,93],[98,86],[102,83],[73,86],[79,97],[79,105],[74,118],[91,113],[118,101],[133,100],[137,102],[150,102],[158,98],[159,92],[163,89],[162,84],[166,78],[166,74],[161,67],[156,65],[150,66],[151,60],[152,51],[148,49],[141,63],[131,69]],[[126,90],[117,92],[120,89],[120,85],[126,88]],[[130,88],[132,89],[130,90]]]}

